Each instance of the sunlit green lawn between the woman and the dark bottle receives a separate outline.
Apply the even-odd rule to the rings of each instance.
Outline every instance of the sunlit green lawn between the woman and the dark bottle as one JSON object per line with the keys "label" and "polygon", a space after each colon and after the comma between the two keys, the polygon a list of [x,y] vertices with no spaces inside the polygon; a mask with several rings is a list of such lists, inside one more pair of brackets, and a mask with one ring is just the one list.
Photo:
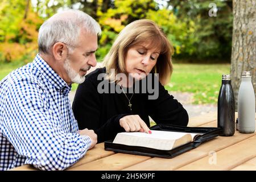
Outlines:
{"label": "sunlit green lawn between the woman and the dark bottle", "polygon": [[174,64],[165,88],[193,93],[193,104],[217,104],[223,74],[230,74],[230,64]]}

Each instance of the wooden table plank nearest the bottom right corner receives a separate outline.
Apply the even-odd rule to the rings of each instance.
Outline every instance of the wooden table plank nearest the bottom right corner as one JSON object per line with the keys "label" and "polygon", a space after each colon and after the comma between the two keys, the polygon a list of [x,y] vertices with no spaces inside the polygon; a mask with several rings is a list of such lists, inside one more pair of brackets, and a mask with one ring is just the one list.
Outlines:
{"label": "wooden table plank nearest the bottom right corner", "polygon": [[[242,134],[250,135],[250,134]],[[233,137],[232,137],[233,138]],[[231,138],[230,138],[231,139]],[[218,141],[218,143],[220,143]],[[247,138],[216,152],[216,164],[209,163],[209,156],[190,163],[177,170],[229,170],[256,156],[256,136]]]}

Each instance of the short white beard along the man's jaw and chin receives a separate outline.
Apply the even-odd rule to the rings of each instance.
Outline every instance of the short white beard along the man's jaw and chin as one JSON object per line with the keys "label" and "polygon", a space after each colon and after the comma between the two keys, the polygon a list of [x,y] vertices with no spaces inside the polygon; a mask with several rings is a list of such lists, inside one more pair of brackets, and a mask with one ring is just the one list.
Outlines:
{"label": "short white beard along the man's jaw and chin", "polygon": [[85,80],[85,76],[80,76],[69,64],[69,59],[64,61],[64,69],[68,73],[68,77],[73,83],[81,84]]}

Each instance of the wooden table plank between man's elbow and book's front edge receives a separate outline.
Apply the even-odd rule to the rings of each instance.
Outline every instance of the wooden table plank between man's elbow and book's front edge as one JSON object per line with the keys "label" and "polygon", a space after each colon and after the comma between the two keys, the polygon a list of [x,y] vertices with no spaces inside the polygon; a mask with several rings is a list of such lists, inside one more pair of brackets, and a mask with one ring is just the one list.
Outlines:
{"label": "wooden table plank between man's elbow and book's front edge", "polygon": [[150,158],[151,157],[149,156],[118,153],[102,159],[94,160],[93,162],[86,163],[81,166],[71,168],[69,170],[120,170],[134,164],[141,163],[144,160],[148,160]]}

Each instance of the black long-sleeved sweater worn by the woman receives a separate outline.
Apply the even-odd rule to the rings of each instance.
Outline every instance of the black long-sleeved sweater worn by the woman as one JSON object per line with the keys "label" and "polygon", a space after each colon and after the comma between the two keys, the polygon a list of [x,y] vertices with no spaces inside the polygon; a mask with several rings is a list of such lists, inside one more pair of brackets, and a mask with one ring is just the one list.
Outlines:
{"label": "black long-sleeved sweater worn by the woman", "polygon": [[[160,82],[158,82],[159,96],[155,100],[148,99],[148,96],[150,96],[148,92],[135,92],[134,95],[133,92],[126,93],[129,99],[133,95],[130,100],[132,104],[132,110],[130,110],[129,101],[123,92],[102,93],[100,89],[104,88],[102,86],[103,82],[97,80],[100,73],[106,73],[106,69],[98,68],[86,76],[85,81],[78,86],[73,101],[73,113],[77,119],[79,129],[94,130],[98,135],[98,143],[113,139],[117,133],[125,131],[119,125],[119,119],[130,114],[138,114],[148,127],[150,126],[148,116],[154,119],[156,123],[187,126],[187,111],[173,96],[168,94]],[[100,83],[101,85],[98,88]],[[111,85],[117,86],[107,80],[105,80],[105,84],[109,85],[109,92]],[[134,88],[136,89],[136,86]],[[98,90],[100,90],[100,93]]]}

